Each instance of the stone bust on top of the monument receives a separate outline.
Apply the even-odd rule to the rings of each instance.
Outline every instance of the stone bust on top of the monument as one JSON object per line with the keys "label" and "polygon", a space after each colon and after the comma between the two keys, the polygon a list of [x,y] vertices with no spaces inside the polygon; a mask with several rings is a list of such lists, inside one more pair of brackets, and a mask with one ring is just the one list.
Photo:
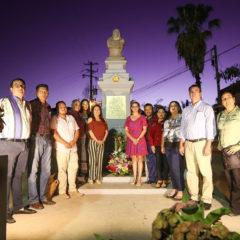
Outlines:
{"label": "stone bust on top of the monument", "polygon": [[106,60],[125,60],[125,57],[122,56],[124,45],[125,40],[121,38],[120,31],[114,29],[112,37],[107,40],[109,57]]}

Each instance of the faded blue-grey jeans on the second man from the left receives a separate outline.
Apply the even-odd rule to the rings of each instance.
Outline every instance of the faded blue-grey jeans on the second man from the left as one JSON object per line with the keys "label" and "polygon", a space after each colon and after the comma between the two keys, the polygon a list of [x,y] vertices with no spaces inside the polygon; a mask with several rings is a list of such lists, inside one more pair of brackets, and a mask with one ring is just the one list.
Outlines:
{"label": "faded blue-grey jeans on the second man from the left", "polygon": [[[28,165],[28,194],[30,204],[46,200],[46,190],[50,177],[52,143],[51,139],[34,136],[30,141]],[[39,194],[37,177],[39,176]]]}

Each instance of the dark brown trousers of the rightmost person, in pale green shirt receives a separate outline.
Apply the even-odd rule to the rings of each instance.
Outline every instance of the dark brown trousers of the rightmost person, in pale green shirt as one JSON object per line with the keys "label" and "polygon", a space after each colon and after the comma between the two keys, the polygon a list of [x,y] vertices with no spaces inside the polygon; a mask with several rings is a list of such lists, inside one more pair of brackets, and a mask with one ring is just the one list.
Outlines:
{"label": "dark brown trousers of the rightmost person, in pale green shirt", "polygon": [[240,168],[225,169],[225,175],[230,188],[231,210],[240,214]]}

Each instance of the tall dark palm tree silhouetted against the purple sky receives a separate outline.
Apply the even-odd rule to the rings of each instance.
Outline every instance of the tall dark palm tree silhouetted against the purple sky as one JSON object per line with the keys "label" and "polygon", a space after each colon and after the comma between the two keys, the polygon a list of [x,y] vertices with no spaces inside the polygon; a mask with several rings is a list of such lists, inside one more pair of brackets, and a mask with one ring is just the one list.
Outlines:
{"label": "tall dark palm tree silhouetted against the purple sky", "polygon": [[178,52],[178,58],[185,60],[186,66],[192,72],[196,79],[196,84],[201,86],[200,74],[204,69],[204,56],[206,54],[206,40],[212,37],[210,31],[213,27],[220,26],[219,19],[208,21],[207,29],[204,24],[207,21],[211,6],[199,4],[187,4],[184,7],[177,7],[177,18],[171,17],[167,24],[168,33],[178,34],[175,46]]}

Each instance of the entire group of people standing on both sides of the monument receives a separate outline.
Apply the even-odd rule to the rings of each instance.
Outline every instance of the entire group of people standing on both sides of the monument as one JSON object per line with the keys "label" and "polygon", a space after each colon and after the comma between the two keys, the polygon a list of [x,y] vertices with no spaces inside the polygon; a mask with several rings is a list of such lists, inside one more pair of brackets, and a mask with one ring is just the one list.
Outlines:
{"label": "entire group of people standing on both sides of the monument", "polygon": [[[0,124],[0,154],[8,155],[7,223],[14,223],[13,214],[33,214],[54,201],[46,197],[51,172],[51,155],[58,166],[59,195],[69,199],[83,196],[76,187],[76,176],[82,174],[89,184],[102,183],[104,143],[108,136],[107,121],[100,105],[90,111],[87,99],[72,101],[68,111],[64,101],[56,104],[57,114],[51,115],[47,103],[49,89],[46,84],[36,87],[36,99],[24,99],[26,83],[14,79],[11,95],[0,99],[4,111]],[[215,114],[212,107],[202,101],[198,85],[189,87],[192,104],[181,109],[177,101],[169,104],[168,113],[159,107],[145,104],[144,115],[138,102],[131,103],[131,115],[124,130],[127,136],[126,154],[131,157],[134,180],[142,185],[144,159],[148,172],[147,183],[165,188],[169,175],[172,190],[168,198],[181,200],[186,187],[191,200],[203,201],[211,208],[213,182],[211,145],[216,135]],[[240,110],[230,92],[222,95],[225,110],[218,114],[219,149],[223,153],[225,173],[231,192],[233,215],[240,214]],[[54,150],[54,151],[53,151]],[[29,206],[22,203],[22,176],[28,166]],[[202,189],[199,189],[200,176]],[[38,181],[39,178],[39,181]],[[39,185],[39,186],[38,186]],[[13,211],[9,208],[12,192]],[[201,196],[200,196],[201,193]]]}

